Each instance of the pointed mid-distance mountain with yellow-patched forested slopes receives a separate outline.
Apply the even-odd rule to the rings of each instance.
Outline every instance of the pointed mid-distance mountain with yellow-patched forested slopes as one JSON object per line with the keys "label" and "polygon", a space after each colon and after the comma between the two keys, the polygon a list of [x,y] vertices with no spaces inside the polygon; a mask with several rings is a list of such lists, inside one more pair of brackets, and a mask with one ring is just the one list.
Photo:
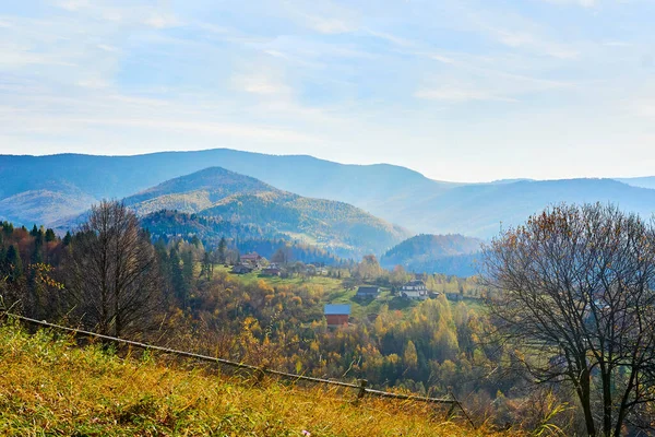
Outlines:
{"label": "pointed mid-distance mountain with yellow-patched forested slopes", "polygon": [[380,253],[409,236],[350,204],[305,198],[221,167],[165,181],[124,202],[140,215],[160,210],[196,213],[257,226],[262,236],[284,234],[344,257]]}

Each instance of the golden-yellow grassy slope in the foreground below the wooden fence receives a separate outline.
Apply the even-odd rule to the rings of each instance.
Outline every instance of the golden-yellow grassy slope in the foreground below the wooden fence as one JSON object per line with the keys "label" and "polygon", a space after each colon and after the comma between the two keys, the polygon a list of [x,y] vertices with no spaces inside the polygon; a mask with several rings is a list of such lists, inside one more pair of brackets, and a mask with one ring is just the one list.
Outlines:
{"label": "golden-yellow grassy slope in the foreground below the wooden fence", "polygon": [[476,436],[419,403],[262,386],[0,327],[0,435]]}

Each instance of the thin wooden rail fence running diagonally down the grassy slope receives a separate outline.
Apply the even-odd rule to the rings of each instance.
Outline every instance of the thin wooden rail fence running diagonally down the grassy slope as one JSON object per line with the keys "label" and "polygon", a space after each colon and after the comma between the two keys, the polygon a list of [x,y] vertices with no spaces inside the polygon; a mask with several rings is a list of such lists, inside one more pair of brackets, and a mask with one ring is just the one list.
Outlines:
{"label": "thin wooden rail fence running diagonally down the grassy slope", "polygon": [[427,402],[427,403],[434,403],[434,404],[448,404],[448,405],[451,405],[450,413],[452,413],[455,408],[460,409],[462,411],[462,413],[464,414],[464,416],[466,417],[466,420],[471,423],[471,425],[473,427],[475,427],[473,421],[471,420],[471,417],[468,416],[468,414],[466,413],[466,411],[464,410],[464,408],[462,406],[460,401],[452,393],[450,394],[451,399],[428,398],[428,397],[420,397],[420,395],[415,395],[415,394],[392,393],[392,392],[388,392],[388,391],[381,391],[381,390],[374,390],[374,389],[367,388],[368,381],[366,379],[358,380],[358,383],[352,383],[352,382],[337,381],[334,379],[314,378],[311,376],[288,374],[286,371],[273,370],[273,369],[270,369],[266,367],[258,367],[258,366],[252,366],[250,364],[237,363],[237,362],[218,358],[218,357],[214,357],[214,356],[195,354],[193,352],[178,351],[178,350],[168,349],[168,347],[164,347],[164,346],[157,346],[154,344],[147,344],[147,343],[136,342],[136,341],[132,341],[132,340],[126,340],[126,339],[119,339],[116,336],[104,335],[104,334],[99,334],[97,332],[85,331],[82,329],[63,327],[61,324],[50,323],[45,320],[36,320],[36,319],[32,319],[29,317],[25,317],[25,316],[12,314],[12,312],[0,311],[0,315],[11,317],[11,318],[14,318],[17,320],[22,320],[22,321],[25,321],[25,322],[28,322],[32,324],[36,324],[36,326],[56,329],[56,330],[64,331],[64,332],[70,332],[74,335],[91,336],[94,339],[110,341],[112,343],[128,344],[130,346],[139,347],[139,349],[146,350],[146,351],[159,351],[165,354],[183,356],[187,358],[193,358],[193,359],[198,359],[198,361],[202,361],[202,362],[217,363],[217,364],[222,364],[222,365],[229,366],[229,367],[252,370],[255,375],[258,375],[259,380],[261,380],[261,378],[263,377],[264,374],[269,374],[269,375],[275,375],[279,378],[289,379],[289,380],[294,380],[294,381],[301,380],[301,381],[309,381],[309,382],[314,382],[314,383],[325,383],[325,385],[330,385],[330,386],[338,386],[338,387],[347,387],[347,388],[352,388],[352,389],[357,389],[358,390],[358,392],[357,392],[358,399],[364,398],[366,394],[370,394],[370,395],[374,395],[374,397],[379,397],[379,398],[398,399],[398,400],[407,400],[407,401],[416,401],[416,402]]}

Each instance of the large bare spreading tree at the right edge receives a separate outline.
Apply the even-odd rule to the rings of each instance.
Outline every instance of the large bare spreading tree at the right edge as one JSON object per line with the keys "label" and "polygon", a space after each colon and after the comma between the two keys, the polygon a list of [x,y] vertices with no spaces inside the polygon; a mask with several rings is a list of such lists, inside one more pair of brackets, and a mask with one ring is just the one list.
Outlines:
{"label": "large bare spreading tree at the right edge", "polygon": [[569,383],[590,436],[620,436],[655,401],[655,227],[558,205],[502,232],[483,274],[498,340],[536,382]]}

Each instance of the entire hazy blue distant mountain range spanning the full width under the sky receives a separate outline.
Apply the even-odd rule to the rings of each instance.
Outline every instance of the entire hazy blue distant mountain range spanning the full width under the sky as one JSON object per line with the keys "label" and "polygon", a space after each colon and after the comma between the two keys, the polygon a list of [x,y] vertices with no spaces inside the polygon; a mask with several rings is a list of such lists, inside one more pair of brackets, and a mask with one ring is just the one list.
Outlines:
{"label": "entire hazy blue distant mountain range spanning the full width under the sky", "polygon": [[[289,193],[346,202],[412,233],[488,238],[501,226],[520,224],[529,214],[561,201],[614,202],[644,216],[655,211],[655,177],[454,184],[394,165],[345,165],[311,156],[216,149],[138,156],[2,155],[0,217],[26,225],[49,224],[78,214],[102,198],[131,197],[212,166],[257,178]],[[179,192],[166,194],[169,198],[165,203],[187,202],[180,208],[184,211],[214,206],[211,198],[183,193],[181,198]],[[270,199],[270,203],[279,199]],[[147,201],[140,201],[144,211],[152,211],[164,199],[157,196]],[[249,201],[263,200],[255,197]],[[288,206],[288,202],[285,204]],[[187,210],[189,205],[192,208]],[[214,213],[234,212],[229,202],[215,206],[218,209]]]}

